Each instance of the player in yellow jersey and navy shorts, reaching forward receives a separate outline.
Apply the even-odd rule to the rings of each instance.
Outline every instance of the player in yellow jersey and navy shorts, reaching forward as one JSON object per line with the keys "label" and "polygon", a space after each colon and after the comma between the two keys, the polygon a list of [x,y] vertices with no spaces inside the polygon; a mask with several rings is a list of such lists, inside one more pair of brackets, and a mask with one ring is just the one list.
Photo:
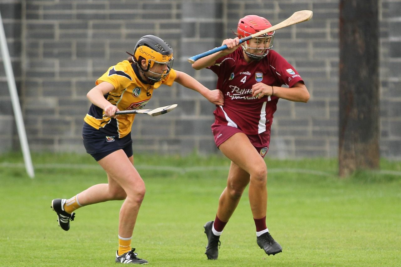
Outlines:
{"label": "player in yellow jersey and navy shorts, reaching forward", "polygon": [[134,167],[132,151],[130,133],[135,114],[115,115],[115,112],[142,109],[152,98],[154,89],[162,84],[171,86],[174,81],[201,93],[215,105],[223,105],[223,95],[220,90],[209,90],[188,74],[172,69],[172,48],[154,35],[140,38],[134,55],[130,55],[128,60],[110,67],[87,93],[92,105],[84,118],[83,143],[86,151],[106,171],[108,183],[91,186],[69,199],[56,198],[51,207],[57,213],[59,226],[68,231],[77,208],[124,200],[119,213],[119,248],[115,261],[144,264],[148,261],[138,258],[131,247],[145,195],[145,184]]}

